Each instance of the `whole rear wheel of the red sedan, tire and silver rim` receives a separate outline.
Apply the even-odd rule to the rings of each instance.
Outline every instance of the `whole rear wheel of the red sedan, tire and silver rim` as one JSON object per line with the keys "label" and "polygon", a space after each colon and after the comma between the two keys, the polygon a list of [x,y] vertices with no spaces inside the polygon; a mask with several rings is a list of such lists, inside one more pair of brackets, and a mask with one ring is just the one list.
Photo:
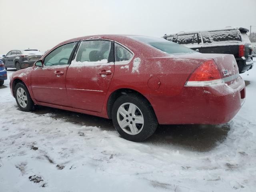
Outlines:
{"label": "whole rear wheel of the red sedan, tire and silver rim", "polygon": [[138,94],[120,96],[113,105],[112,120],[123,138],[135,142],[146,140],[158,126],[152,106]]}

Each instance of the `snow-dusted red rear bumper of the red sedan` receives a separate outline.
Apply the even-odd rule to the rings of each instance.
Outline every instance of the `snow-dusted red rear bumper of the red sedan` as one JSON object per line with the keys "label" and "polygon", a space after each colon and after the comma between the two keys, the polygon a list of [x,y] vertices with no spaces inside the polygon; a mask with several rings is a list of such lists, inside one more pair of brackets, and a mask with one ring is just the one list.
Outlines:
{"label": "snow-dusted red rear bumper of the red sedan", "polygon": [[175,96],[146,96],[159,124],[223,124],[229,122],[245,101],[245,83],[184,87]]}

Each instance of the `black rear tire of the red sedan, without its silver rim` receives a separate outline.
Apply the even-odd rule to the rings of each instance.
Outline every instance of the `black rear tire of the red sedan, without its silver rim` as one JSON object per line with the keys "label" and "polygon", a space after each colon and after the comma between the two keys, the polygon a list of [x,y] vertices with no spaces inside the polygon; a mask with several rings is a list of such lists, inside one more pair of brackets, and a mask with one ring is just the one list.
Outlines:
{"label": "black rear tire of the red sedan, without its silver rim", "polygon": [[[144,125],[142,127],[142,130],[140,130],[138,134],[134,134],[134,135],[128,134],[118,124],[118,119],[117,119],[118,108],[125,103],[131,103],[136,105],[141,111],[141,115],[144,118]],[[140,141],[146,140],[147,138],[152,136],[152,134],[154,134],[154,132],[156,131],[156,128],[158,127],[158,121],[152,106],[150,105],[148,100],[146,100],[139,94],[127,94],[127,95],[120,96],[114,102],[114,105],[112,108],[112,121],[113,121],[114,127],[116,128],[118,133],[122,136],[122,138],[125,138],[130,141],[134,141],[134,142],[140,142]],[[128,128],[128,126],[126,128]]]}

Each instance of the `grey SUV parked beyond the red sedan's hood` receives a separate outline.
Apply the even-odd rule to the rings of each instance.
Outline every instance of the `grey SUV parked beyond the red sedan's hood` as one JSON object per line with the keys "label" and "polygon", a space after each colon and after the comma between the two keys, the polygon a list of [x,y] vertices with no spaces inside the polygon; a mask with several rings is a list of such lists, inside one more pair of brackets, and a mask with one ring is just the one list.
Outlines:
{"label": "grey SUV parked beyond the red sedan's hood", "polygon": [[37,49],[11,50],[6,55],[3,55],[2,60],[6,70],[7,68],[20,70],[33,66],[34,62],[41,57],[42,53]]}

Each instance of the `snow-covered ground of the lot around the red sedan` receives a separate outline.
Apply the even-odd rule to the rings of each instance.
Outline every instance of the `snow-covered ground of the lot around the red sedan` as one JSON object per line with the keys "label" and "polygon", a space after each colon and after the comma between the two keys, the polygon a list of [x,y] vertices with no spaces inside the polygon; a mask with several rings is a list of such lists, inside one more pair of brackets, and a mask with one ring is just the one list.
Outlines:
{"label": "snow-covered ground of the lot around the red sedan", "polygon": [[231,122],[160,126],[142,143],[120,138],[111,120],[46,107],[22,112],[6,80],[0,192],[255,192],[256,66],[241,76],[246,102]]}

